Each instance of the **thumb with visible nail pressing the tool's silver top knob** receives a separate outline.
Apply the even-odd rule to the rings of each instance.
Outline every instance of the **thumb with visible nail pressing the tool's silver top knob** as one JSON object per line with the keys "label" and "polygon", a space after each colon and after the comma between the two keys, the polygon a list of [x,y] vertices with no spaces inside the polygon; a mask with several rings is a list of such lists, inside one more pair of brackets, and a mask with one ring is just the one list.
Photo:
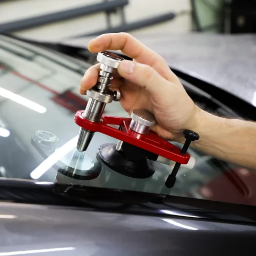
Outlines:
{"label": "thumb with visible nail pressing the tool's silver top knob", "polygon": [[[118,73],[126,80],[137,84],[150,93],[157,93],[169,82],[158,74],[151,66],[131,60],[123,60],[118,67]],[[161,86],[161,88],[159,88]],[[160,89],[160,90],[159,90]]]}

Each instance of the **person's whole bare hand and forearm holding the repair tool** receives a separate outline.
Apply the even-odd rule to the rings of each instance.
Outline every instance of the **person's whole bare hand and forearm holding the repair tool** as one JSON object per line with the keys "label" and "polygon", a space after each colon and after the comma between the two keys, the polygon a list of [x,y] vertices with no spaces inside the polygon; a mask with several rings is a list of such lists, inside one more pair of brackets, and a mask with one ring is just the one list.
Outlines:
{"label": "person's whole bare hand and forearm holding the repair tool", "polygon": [[[127,33],[103,34],[91,40],[89,51],[121,50],[133,60],[121,61],[111,81],[112,90],[121,92],[120,104],[131,114],[145,109],[155,115],[152,130],[172,141],[184,142],[184,129],[200,135],[193,146],[225,161],[256,168],[256,123],[218,117],[198,108],[166,61]],[[89,68],[79,92],[95,86],[99,64]]]}

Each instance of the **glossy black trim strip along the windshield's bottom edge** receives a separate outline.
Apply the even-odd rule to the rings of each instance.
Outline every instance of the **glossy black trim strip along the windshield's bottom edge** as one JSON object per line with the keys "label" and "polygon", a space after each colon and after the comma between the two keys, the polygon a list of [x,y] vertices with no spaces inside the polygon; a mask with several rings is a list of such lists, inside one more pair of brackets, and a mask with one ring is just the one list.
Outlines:
{"label": "glossy black trim strip along the windshield's bottom edge", "polygon": [[256,207],[139,191],[0,178],[0,202],[256,225]]}

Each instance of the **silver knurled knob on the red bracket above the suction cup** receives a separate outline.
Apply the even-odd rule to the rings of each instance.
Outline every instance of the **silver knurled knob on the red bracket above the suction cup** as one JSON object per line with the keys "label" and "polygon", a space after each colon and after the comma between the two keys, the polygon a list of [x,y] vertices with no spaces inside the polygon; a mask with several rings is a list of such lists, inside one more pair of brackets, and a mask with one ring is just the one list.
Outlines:
{"label": "silver knurled knob on the red bracket above the suction cup", "polygon": [[139,134],[148,134],[150,127],[156,124],[155,117],[146,110],[134,110],[131,118],[130,129]]}

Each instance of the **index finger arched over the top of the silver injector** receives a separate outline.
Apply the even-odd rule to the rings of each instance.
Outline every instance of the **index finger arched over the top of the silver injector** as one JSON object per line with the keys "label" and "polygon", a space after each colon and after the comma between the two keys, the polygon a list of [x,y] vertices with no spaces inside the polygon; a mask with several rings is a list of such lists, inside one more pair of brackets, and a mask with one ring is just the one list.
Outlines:
{"label": "index finger arched over the top of the silver injector", "polygon": [[177,78],[160,55],[148,49],[128,33],[100,35],[89,42],[88,49],[94,53],[105,50],[121,50],[137,62],[153,67],[165,79],[176,80]]}

